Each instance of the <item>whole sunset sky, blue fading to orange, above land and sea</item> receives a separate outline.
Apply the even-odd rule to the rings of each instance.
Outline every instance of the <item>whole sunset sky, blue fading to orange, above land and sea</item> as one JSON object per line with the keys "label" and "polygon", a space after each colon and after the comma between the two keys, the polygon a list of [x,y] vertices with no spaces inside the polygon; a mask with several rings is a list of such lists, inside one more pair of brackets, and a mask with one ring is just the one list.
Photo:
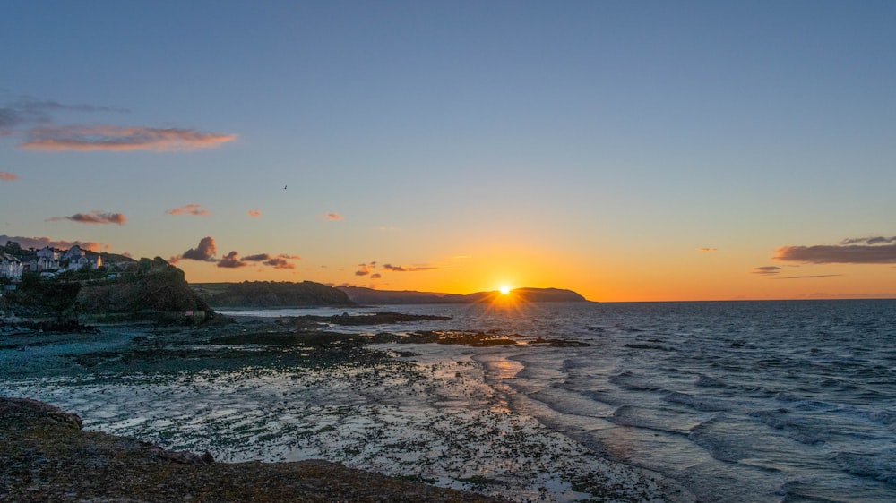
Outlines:
{"label": "whole sunset sky, blue fading to orange, above land and sea", "polygon": [[889,0],[0,11],[0,242],[194,283],[896,297]]}

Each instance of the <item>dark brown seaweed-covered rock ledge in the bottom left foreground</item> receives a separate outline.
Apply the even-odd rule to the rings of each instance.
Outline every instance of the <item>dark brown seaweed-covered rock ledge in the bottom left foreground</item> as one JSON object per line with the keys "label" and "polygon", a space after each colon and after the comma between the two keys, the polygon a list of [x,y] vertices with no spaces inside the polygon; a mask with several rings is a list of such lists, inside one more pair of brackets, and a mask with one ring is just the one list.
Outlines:
{"label": "dark brown seaweed-covered rock ledge in the bottom left foreground", "polygon": [[81,430],[73,413],[0,398],[0,500],[499,501],[325,461],[214,463]]}

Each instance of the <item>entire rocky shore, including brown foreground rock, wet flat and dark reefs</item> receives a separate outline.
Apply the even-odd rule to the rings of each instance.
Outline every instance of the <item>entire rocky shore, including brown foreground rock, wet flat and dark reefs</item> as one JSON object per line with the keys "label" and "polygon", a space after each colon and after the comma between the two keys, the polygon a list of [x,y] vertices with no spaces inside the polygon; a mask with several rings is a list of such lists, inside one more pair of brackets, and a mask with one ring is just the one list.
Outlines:
{"label": "entire rocky shore, including brown foreground rock, wet flat and dark reefs", "polygon": [[377,318],[392,332],[337,315],[6,334],[0,396],[86,431],[16,402],[0,500],[683,500],[514,412],[477,362],[510,379],[514,351],[573,341]]}

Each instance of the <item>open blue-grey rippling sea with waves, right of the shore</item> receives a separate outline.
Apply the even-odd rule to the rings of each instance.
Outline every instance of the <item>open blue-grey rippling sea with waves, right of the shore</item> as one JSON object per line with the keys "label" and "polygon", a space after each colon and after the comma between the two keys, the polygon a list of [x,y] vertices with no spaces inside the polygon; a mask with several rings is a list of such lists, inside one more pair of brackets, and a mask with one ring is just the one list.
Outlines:
{"label": "open blue-grey rippling sea with waves, right of the shore", "polygon": [[482,348],[474,360],[515,411],[674,479],[699,501],[896,501],[896,300],[349,314],[365,311],[452,317],[371,331],[475,329],[587,344]]}

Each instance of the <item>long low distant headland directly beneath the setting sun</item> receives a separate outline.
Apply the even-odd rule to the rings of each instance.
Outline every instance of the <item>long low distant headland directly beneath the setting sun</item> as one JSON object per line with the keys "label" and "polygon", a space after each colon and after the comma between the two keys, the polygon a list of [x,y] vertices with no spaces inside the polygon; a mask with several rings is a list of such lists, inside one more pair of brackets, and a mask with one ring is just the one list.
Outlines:
{"label": "long low distant headland directly beneath the setting sun", "polygon": [[[413,290],[374,290],[361,286],[337,286],[349,295],[349,299],[359,304],[425,304],[425,303],[486,303],[503,295],[500,292],[477,292],[475,294],[436,294]],[[507,294],[511,299],[527,303],[583,303],[588,302],[581,294],[560,288],[516,288]]]}

